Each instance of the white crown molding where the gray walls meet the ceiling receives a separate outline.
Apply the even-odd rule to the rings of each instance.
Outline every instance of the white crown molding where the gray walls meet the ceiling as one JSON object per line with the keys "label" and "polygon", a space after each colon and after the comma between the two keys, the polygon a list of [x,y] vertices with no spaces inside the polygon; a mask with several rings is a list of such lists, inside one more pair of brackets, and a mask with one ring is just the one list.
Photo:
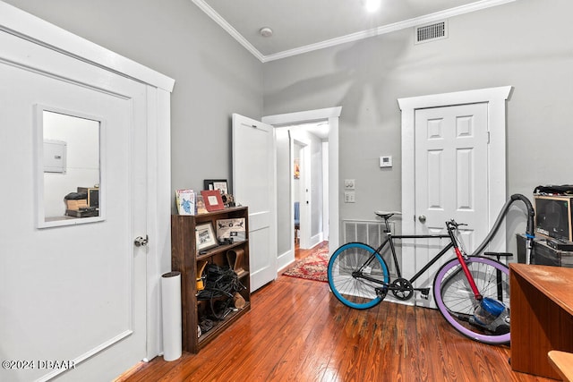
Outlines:
{"label": "white crown molding where the gray walls meet the ceiling", "polygon": [[218,25],[224,30],[227,30],[227,32],[233,38],[235,38],[241,45],[243,45],[243,47],[251,52],[252,55],[257,57],[261,63],[268,63],[270,61],[280,60],[282,58],[291,57],[293,55],[302,55],[304,53],[309,53],[315,50],[323,49],[325,47],[335,47],[341,44],[346,44],[348,42],[354,42],[364,38],[372,38],[374,36],[380,36],[397,30],[405,30],[407,28],[413,28],[418,25],[427,24],[433,21],[440,21],[450,17],[458,16],[460,14],[472,13],[486,8],[491,8],[493,6],[513,3],[516,1],[517,0],[480,0],[476,1],[475,3],[450,8],[445,11],[430,13],[424,16],[415,17],[414,19],[394,22],[392,24],[383,25],[378,28],[372,28],[371,30],[362,30],[339,38],[331,38],[315,44],[309,44],[304,47],[297,47],[295,49],[285,50],[272,55],[262,55],[256,47],[253,47],[252,44],[246,40],[246,38],[244,38],[225,19],[223,19],[217,12],[215,12],[215,10],[211,8],[209,4],[206,4],[204,0],[192,0],[192,2],[201,8],[204,13],[207,13],[207,15],[209,15],[213,21],[217,22]]}

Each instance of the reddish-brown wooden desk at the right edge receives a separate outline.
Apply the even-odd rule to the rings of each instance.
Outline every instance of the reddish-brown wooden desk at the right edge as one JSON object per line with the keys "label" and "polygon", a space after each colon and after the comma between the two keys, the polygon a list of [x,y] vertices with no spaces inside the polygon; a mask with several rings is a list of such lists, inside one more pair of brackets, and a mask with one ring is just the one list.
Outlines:
{"label": "reddish-brown wooden desk at the right edge", "polygon": [[547,353],[573,352],[573,268],[509,265],[511,369],[560,379]]}

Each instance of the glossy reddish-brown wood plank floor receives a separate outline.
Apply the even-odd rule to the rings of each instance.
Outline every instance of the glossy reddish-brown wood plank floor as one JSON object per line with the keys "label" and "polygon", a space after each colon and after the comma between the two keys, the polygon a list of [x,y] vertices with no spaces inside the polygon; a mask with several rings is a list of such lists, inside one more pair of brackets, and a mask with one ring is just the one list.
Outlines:
{"label": "glossy reddish-brown wood plank floor", "polygon": [[327,283],[279,276],[199,354],[156,357],[136,381],[552,381],[511,370],[509,347],[459,335],[430,310],[382,302],[351,310]]}

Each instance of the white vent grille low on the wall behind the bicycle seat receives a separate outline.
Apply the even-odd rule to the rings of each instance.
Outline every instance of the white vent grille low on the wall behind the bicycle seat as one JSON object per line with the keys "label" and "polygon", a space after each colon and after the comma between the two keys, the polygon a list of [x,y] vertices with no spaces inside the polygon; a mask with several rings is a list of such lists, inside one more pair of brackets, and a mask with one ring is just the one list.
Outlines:
{"label": "white vent grille low on the wall behind the bicycle seat", "polygon": [[[390,231],[394,233],[394,222],[389,222]],[[368,220],[343,220],[342,221],[342,234],[343,241],[346,242],[365,242],[376,250],[386,238],[384,233],[384,224],[379,221]],[[396,244],[396,253],[398,255],[398,263],[401,264],[401,250],[399,242]],[[396,276],[396,267],[394,267],[394,260],[389,250],[389,245],[384,247],[382,257],[388,265],[390,275]]]}

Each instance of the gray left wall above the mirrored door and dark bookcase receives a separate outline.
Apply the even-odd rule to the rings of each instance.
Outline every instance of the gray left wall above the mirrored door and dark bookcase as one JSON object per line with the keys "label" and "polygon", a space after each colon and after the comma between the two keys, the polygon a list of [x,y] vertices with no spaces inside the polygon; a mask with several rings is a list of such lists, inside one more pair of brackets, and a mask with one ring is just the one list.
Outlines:
{"label": "gray left wall above the mirrored door and dark bookcase", "polygon": [[175,79],[172,189],[231,180],[231,114],[261,119],[262,64],[190,0],[6,3]]}

